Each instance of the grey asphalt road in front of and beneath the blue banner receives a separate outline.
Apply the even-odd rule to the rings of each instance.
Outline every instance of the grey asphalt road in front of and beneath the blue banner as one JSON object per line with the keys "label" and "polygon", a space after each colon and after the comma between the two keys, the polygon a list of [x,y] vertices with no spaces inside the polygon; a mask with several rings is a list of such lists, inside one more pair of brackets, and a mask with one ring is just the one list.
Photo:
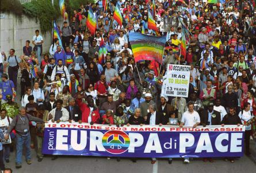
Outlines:
{"label": "grey asphalt road in front of and beneath the blue banner", "polygon": [[[253,143],[252,143],[253,144]],[[252,146],[253,147],[253,146]],[[255,155],[255,151],[252,151]],[[215,159],[215,162],[202,162],[202,159],[193,159],[189,164],[184,164],[181,159],[174,159],[172,164],[168,164],[167,159],[159,159],[154,165],[150,159],[139,159],[137,163],[132,163],[128,158],[117,162],[112,158],[106,157],[87,157],[87,156],[60,156],[56,160],[51,160],[51,156],[45,156],[42,162],[37,162],[35,149],[32,150],[32,164],[25,162],[25,156],[22,158],[22,168],[15,168],[15,153],[11,153],[10,163],[6,167],[13,168],[14,173],[45,173],[45,172],[255,172],[256,163],[253,156],[243,156],[236,159],[235,163],[225,162],[223,159]]]}

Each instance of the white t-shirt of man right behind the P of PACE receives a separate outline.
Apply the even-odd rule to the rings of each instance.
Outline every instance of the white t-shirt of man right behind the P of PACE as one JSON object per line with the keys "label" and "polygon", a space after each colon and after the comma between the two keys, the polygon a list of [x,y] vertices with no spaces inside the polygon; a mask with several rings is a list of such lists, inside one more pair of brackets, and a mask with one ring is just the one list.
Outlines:
{"label": "white t-shirt of man right behind the P of PACE", "polygon": [[200,116],[196,111],[193,111],[193,113],[186,111],[182,115],[181,122],[184,122],[185,126],[193,126],[196,123],[200,123]]}

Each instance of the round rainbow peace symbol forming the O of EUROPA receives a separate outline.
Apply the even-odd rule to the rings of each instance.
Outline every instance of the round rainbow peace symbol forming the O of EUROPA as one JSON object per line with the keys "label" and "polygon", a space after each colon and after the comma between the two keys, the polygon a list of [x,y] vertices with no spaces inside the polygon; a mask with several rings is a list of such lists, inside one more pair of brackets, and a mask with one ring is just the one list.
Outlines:
{"label": "round rainbow peace symbol forming the O of EUROPA", "polygon": [[116,155],[127,151],[130,139],[123,131],[110,130],[102,137],[102,145],[107,152]]}

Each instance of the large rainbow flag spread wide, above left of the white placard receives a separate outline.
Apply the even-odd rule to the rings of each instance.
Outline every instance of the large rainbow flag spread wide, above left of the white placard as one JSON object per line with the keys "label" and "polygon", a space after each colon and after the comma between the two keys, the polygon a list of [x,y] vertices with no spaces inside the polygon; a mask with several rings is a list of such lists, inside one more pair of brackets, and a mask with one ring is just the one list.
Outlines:
{"label": "large rainbow flag spread wide, above left of the white placard", "polygon": [[147,36],[138,32],[129,33],[135,62],[140,60],[156,60],[162,63],[163,50],[165,49],[166,36]]}

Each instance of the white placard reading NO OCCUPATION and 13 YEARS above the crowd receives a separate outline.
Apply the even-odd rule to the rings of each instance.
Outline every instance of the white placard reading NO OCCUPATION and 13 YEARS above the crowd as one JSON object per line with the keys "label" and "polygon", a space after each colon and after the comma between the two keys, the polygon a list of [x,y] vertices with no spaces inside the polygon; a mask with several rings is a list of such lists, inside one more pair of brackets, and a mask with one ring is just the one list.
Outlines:
{"label": "white placard reading NO OCCUPATION and 13 YEARS above the crowd", "polygon": [[163,92],[171,97],[188,97],[190,66],[169,64],[166,79],[163,81]]}

